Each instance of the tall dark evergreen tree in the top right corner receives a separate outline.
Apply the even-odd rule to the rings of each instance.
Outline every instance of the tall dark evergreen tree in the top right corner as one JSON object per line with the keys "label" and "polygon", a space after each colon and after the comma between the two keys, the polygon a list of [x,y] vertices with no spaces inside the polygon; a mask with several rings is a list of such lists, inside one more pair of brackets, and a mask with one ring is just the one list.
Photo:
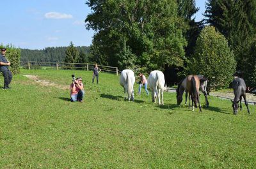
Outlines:
{"label": "tall dark evergreen tree in the top right corner", "polygon": [[[256,35],[255,0],[208,0],[205,17],[207,24],[215,26],[234,50],[237,70],[243,68],[244,50]],[[243,71],[243,70],[242,70]]]}

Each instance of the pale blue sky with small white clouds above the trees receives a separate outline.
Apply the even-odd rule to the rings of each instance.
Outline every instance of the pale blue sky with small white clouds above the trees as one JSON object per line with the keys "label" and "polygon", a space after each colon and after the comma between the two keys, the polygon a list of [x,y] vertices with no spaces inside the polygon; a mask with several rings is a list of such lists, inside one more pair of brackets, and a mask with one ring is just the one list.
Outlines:
{"label": "pale blue sky with small white clouds above the trees", "polygon": [[[0,43],[15,47],[43,49],[90,46],[93,31],[85,28],[84,20],[90,8],[86,0],[8,0],[1,1]],[[196,0],[202,20],[205,1]]]}

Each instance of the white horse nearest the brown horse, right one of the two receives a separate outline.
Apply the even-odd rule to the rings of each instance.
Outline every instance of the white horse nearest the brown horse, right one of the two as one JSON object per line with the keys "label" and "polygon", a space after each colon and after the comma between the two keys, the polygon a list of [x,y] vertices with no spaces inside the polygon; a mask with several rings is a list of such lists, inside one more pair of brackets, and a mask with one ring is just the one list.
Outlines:
{"label": "white horse nearest the brown horse, right one of the two", "polygon": [[[158,104],[163,105],[164,104],[164,73],[159,70],[151,71],[148,76],[148,86],[150,87],[150,90],[152,92],[152,101],[156,103],[156,98],[158,98]],[[162,99],[162,102],[160,101],[160,96]]]}

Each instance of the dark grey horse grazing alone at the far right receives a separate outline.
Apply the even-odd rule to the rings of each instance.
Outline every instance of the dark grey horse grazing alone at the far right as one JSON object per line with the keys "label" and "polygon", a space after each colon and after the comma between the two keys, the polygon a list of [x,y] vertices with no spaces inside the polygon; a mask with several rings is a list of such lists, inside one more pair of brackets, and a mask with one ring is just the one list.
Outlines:
{"label": "dark grey horse grazing alone at the far right", "polygon": [[234,114],[236,115],[238,112],[237,103],[239,103],[239,101],[240,101],[240,110],[242,110],[242,96],[244,98],[244,103],[247,107],[248,114],[250,114],[250,111],[248,108],[248,103],[246,101],[246,94],[245,94],[246,85],[245,85],[243,78],[235,78],[232,82],[232,88],[233,88],[234,94],[235,94],[234,100],[233,101],[231,100]]}

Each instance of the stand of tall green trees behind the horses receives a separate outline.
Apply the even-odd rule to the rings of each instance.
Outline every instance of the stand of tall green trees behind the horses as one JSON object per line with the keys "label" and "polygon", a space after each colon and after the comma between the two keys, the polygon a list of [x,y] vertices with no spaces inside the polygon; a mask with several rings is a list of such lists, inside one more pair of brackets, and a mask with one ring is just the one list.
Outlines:
{"label": "stand of tall green trees behind the horses", "polygon": [[90,55],[99,64],[150,72],[167,82],[188,73],[227,87],[234,75],[256,85],[256,1],[207,0],[205,19],[195,21],[195,0],[89,0],[93,29]]}

